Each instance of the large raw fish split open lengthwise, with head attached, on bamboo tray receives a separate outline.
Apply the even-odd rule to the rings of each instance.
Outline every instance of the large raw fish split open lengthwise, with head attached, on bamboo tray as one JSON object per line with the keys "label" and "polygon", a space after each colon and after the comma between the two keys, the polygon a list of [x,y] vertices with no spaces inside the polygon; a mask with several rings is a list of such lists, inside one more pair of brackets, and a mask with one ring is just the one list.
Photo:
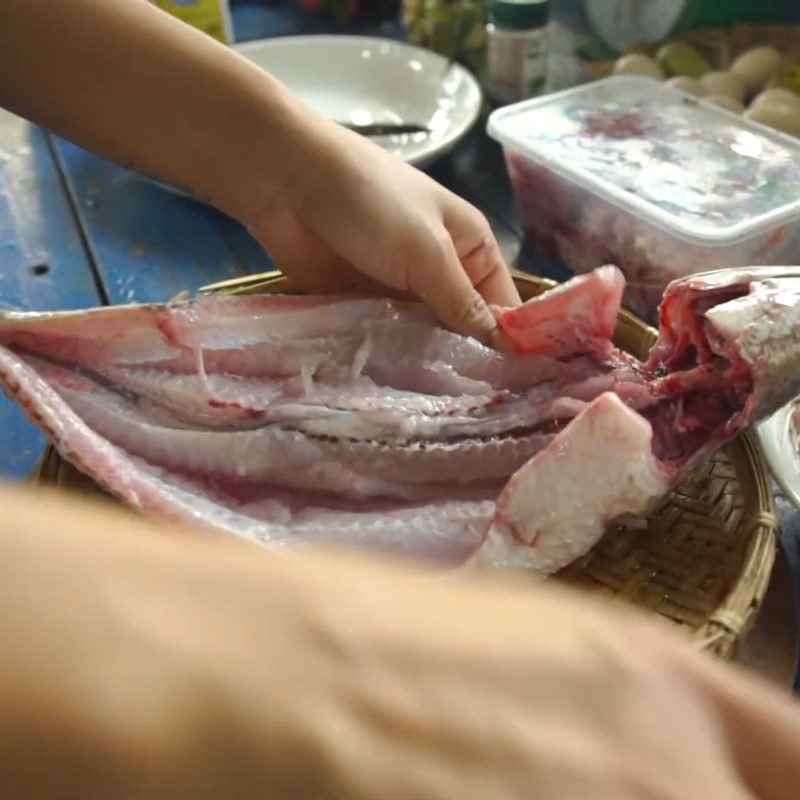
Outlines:
{"label": "large raw fish split open lengthwise, with head attached, on bamboo tray", "polygon": [[800,390],[796,268],[672,284],[644,361],[612,342],[624,288],[605,266],[493,309],[509,352],[356,296],[2,312],[0,383],[147,512],[549,574]]}

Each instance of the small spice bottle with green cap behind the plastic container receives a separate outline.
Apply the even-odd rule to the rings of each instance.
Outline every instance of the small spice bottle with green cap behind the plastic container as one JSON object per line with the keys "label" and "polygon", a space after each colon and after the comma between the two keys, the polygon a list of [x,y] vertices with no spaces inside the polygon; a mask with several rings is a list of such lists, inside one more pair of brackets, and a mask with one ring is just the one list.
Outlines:
{"label": "small spice bottle with green cap behind the plastic container", "polygon": [[538,94],[547,77],[550,0],[491,0],[486,92],[497,103]]}

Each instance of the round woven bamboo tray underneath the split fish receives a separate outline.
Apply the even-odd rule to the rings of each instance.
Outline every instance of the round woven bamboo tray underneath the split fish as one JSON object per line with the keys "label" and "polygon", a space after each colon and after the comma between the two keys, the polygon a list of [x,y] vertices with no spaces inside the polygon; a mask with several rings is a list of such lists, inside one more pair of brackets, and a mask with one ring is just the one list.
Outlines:
{"label": "round woven bamboo tray underneath the split fish", "polygon": [[[522,273],[523,299],[554,284]],[[205,287],[228,294],[291,289],[278,272]],[[643,357],[655,331],[622,311],[616,343]],[[89,478],[48,446],[31,476],[39,485],[97,493]],[[745,433],[665,498],[646,528],[615,526],[584,558],[556,577],[626,600],[679,626],[698,648],[731,659],[753,624],[775,560],[778,524],[766,469]]]}

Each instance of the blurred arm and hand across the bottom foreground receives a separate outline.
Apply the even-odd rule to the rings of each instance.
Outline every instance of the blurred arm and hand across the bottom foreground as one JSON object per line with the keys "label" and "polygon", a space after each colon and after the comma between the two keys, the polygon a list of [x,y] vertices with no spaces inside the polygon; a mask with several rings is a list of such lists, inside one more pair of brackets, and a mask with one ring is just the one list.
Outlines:
{"label": "blurred arm and hand across the bottom foreground", "polygon": [[795,796],[797,706],[651,620],[44,500],[3,489],[3,796]]}

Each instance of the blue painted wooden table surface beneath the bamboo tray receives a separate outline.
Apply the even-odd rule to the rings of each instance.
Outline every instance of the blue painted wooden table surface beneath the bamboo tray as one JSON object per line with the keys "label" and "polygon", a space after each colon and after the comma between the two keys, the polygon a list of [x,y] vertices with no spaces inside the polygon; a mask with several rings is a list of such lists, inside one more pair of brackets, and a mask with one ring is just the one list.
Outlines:
{"label": "blue painted wooden table surface beneath the bamboo tray", "polygon": [[[397,23],[334,25],[296,2],[234,0],[237,41],[314,32],[400,36]],[[0,111],[0,306],[71,309],[167,300],[272,268],[238,223]],[[429,174],[483,210],[509,263],[556,279],[567,271],[523,241],[500,149],[479,123]],[[20,480],[44,439],[0,399],[0,476]],[[800,519],[779,504],[797,558]],[[797,572],[795,572],[797,575]]]}

